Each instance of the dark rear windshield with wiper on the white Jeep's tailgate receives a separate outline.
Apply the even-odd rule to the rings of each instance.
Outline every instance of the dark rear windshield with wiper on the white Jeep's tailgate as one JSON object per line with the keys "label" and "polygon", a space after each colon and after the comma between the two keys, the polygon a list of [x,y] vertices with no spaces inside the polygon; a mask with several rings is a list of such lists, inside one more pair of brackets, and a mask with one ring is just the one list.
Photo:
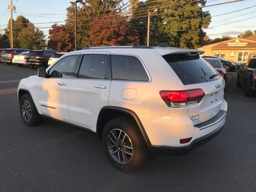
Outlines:
{"label": "dark rear windshield with wiper on the white Jeep's tailgate", "polygon": [[186,54],[169,54],[163,58],[174,70],[184,85],[204,83],[217,80],[220,76],[210,77],[217,71],[201,58],[198,54],[190,56]]}

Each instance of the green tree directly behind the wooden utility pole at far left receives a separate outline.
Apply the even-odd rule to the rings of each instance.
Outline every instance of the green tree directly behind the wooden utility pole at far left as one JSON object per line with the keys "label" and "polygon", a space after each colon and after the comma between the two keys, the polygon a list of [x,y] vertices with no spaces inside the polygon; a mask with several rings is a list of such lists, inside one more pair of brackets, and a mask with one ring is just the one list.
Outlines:
{"label": "green tree directly behind the wooden utility pole at far left", "polygon": [[[19,15],[16,20],[12,21],[13,23],[13,30],[12,30],[12,40],[13,40],[13,47],[14,48],[20,48],[20,42],[18,41],[19,33],[22,31],[23,28],[28,27],[29,20],[25,18],[22,15]],[[8,40],[10,41],[10,20],[8,21],[7,28],[5,30],[5,34],[8,37]]]}

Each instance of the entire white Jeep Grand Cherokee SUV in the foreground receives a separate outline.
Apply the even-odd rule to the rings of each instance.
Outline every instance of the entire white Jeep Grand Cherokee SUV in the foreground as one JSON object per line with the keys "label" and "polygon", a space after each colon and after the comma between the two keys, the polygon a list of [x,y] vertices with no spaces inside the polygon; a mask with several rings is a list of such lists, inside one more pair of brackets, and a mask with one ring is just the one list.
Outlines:
{"label": "entire white Jeep Grand Cherokee SUV in the foreground", "polygon": [[120,46],[69,52],[20,81],[20,113],[96,132],[110,162],[141,166],[152,147],[186,148],[226,120],[224,79],[201,50]]}

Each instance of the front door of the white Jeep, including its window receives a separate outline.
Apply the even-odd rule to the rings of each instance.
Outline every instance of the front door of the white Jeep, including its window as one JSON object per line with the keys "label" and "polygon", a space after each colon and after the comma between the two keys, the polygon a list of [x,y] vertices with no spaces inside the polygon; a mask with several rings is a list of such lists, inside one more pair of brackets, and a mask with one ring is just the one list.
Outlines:
{"label": "front door of the white Jeep, including its window", "polygon": [[37,85],[41,112],[52,118],[70,122],[68,116],[68,85],[80,54],[68,55],[47,71],[48,78],[40,78]]}

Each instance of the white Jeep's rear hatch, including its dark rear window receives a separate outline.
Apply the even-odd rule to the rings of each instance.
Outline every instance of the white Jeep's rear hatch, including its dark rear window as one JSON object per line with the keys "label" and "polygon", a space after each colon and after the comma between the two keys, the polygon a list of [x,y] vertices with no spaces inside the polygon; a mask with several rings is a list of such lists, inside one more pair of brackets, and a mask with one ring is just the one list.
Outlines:
{"label": "white Jeep's rear hatch, including its dark rear window", "polygon": [[218,72],[195,52],[167,54],[163,58],[187,90],[202,89],[204,92],[200,102],[186,106],[193,124],[200,124],[216,116],[224,100],[225,88],[224,79],[217,75]]}

